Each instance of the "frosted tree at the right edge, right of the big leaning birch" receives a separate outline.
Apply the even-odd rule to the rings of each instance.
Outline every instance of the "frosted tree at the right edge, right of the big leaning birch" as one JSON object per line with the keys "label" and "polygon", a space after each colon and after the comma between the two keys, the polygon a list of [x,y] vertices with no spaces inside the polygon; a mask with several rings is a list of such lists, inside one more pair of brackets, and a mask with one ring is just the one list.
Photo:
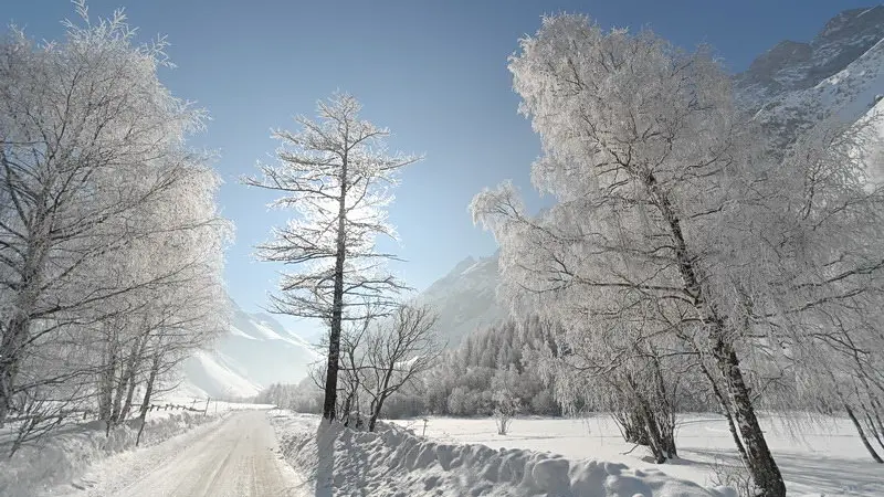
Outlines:
{"label": "frosted tree at the right edge, right of the big leaning birch", "polygon": [[781,198],[769,195],[777,222],[764,232],[771,298],[753,298],[753,318],[766,332],[756,350],[792,385],[765,399],[770,406],[843,409],[864,443],[872,435],[884,447],[884,190],[873,178],[880,125],[833,116],[785,154]]}

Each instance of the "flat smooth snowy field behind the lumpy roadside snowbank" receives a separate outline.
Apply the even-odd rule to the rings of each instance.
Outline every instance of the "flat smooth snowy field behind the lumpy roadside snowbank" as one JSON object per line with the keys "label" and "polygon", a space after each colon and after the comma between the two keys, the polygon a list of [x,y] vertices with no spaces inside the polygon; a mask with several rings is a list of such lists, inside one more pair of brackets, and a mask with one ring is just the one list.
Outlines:
{"label": "flat smooth snowy field behind the lumpy roadside snowbank", "polygon": [[[789,422],[787,422],[789,421]],[[397,421],[417,434],[422,420]],[[782,469],[789,495],[884,496],[884,468],[869,457],[850,421],[813,422],[796,416],[762,420],[767,441]],[[430,417],[427,436],[445,444],[482,444],[499,450],[525,448],[561,454],[570,459],[594,458],[640,470],[659,469],[677,478],[709,486],[715,468],[736,467],[737,455],[727,424],[719,416],[684,416],[676,434],[678,461],[656,465],[648,452],[623,442],[608,416],[588,420],[517,419],[509,434],[496,434],[493,419]]]}

